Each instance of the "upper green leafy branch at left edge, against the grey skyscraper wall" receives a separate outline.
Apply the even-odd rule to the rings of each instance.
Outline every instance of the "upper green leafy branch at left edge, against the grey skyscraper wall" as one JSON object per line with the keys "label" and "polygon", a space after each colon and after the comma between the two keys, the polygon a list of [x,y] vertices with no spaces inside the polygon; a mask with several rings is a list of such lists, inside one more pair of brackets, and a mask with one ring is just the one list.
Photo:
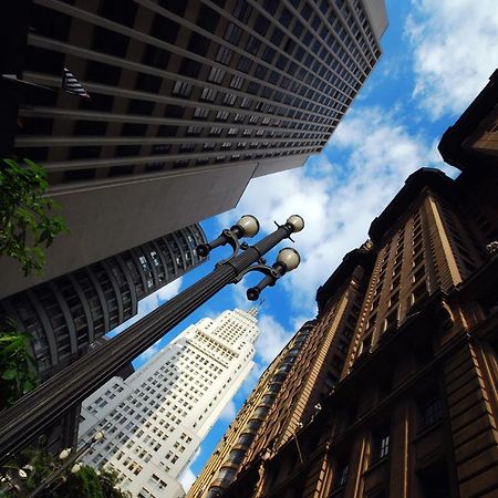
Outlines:
{"label": "upper green leafy branch at left edge, against the grey skyscraper wall", "polygon": [[49,188],[46,172],[32,160],[25,167],[15,160],[3,159],[0,165],[0,256],[9,256],[21,263],[24,277],[35,270],[42,273],[45,248],[58,234],[68,231],[59,216],[51,211],[60,206],[43,197]]}

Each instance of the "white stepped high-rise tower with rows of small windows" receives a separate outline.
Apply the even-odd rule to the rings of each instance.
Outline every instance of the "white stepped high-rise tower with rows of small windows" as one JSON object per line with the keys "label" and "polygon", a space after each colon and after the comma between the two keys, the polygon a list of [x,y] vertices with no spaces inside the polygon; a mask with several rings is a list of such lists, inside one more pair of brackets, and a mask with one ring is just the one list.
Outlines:
{"label": "white stepped high-rise tower with rows of small windows", "polygon": [[253,366],[257,311],[225,311],[188,326],[127,380],[84,403],[81,443],[103,428],[83,461],[118,471],[134,497],[180,497],[178,476]]}

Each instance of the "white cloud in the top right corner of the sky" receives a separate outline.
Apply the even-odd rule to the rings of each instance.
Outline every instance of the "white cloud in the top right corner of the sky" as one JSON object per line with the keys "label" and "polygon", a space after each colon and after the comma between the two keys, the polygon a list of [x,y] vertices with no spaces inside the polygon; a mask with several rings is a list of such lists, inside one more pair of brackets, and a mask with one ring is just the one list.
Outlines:
{"label": "white cloud in the top right corner of the sky", "polygon": [[486,85],[498,61],[496,0],[413,0],[405,32],[415,90],[432,118],[459,114]]}

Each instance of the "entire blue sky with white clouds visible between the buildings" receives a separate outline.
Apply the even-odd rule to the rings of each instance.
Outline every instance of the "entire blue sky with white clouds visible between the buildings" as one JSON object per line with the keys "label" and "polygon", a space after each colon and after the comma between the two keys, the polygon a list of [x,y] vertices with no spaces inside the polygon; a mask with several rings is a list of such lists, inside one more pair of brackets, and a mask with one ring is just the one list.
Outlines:
{"label": "entire blue sky with white clouds visible between the buildings", "polygon": [[[386,7],[390,27],[381,41],[381,61],[322,153],[303,168],[252,180],[236,209],[201,222],[209,239],[246,212],[260,220],[260,236],[272,231],[273,220],[283,222],[294,212],[307,226],[294,237],[301,267],[262,294],[256,367],[206,438],[186,483],[203,468],[264,366],[314,317],[317,288],[349,250],[366,239],[370,222],[405,178],[423,166],[456,175],[436,147],[497,65],[496,0],[386,0]],[[144,300],[139,315],[211,271],[225,255],[226,248],[216,250],[203,267]],[[268,262],[273,259],[270,255]],[[235,307],[248,309],[245,291],[258,278],[253,274],[226,288],[136,365],[203,317]]]}

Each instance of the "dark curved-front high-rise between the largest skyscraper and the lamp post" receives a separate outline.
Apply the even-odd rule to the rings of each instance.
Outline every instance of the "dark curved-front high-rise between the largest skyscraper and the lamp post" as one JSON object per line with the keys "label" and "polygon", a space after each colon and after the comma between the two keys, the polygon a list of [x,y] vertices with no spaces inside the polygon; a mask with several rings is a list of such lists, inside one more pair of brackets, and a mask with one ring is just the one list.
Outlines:
{"label": "dark curved-front high-rise between the largest skyscraper and the lamp post", "polygon": [[149,295],[204,260],[196,224],[0,300],[0,314],[32,336],[41,377],[72,363],[89,345],[137,313]]}

